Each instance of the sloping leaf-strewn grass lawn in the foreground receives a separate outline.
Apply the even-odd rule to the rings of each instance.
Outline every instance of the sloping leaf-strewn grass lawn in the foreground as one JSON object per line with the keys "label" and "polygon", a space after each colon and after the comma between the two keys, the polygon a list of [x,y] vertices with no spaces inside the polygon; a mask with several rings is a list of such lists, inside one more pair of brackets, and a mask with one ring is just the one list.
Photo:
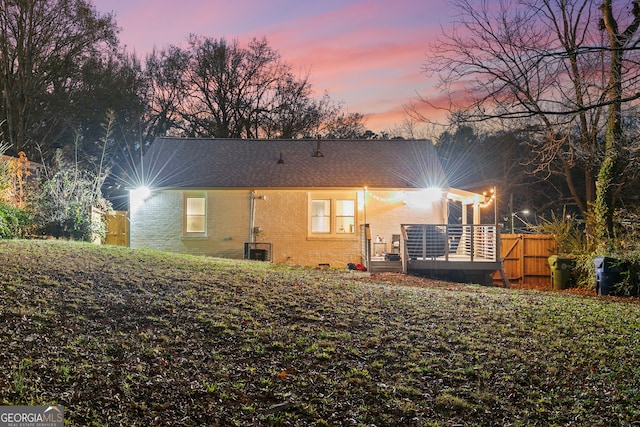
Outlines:
{"label": "sloping leaf-strewn grass lawn in the foreground", "polygon": [[75,426],[640,423],[636,299],[0,242],[0,404]]}

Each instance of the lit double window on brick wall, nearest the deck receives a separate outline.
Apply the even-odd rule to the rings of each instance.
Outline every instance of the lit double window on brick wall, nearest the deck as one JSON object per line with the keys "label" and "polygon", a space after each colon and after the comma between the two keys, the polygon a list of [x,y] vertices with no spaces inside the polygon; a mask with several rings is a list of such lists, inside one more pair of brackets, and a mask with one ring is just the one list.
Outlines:
{"label": "lit double window on brick wall, nearest the deck", "polygon": [[355,199],[311,199],[311,234],[346,235],[355,234]]}

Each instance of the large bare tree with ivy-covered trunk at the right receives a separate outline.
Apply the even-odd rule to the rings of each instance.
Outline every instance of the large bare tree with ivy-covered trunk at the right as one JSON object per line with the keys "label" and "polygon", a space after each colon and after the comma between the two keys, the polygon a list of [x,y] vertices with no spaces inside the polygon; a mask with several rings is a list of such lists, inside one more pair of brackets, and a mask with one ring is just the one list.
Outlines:
{"label": "large bare tree with ivy-covered trunk at the right", "polygon": [[[594,203],[610,206],[618,183],[602,172],[618,167],[607,158],[620,148],[621,108],[640,93],[630,72],[637,1],[618,9],[594,0],[453,4],[456,23],[424,67],[440,77],[445,108],[462,122],[508,120],[534,133],[538,172],[561,175],[585,215]],[[599,212],[610,218],[604,205]]]}

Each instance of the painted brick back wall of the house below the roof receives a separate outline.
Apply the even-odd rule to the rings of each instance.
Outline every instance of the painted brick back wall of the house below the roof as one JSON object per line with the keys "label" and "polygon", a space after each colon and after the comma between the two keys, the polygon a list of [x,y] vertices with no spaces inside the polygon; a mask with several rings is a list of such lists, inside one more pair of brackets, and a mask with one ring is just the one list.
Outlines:
{"label": "painted brick back wall of the house below the roof", "polygon": [[[371,192],[373,193],[373,192]],[[170,252],[242,258],[244,242],[250,239],[251,192],[249,190],[209,190],[207,194],[207,235],[186,238],[182,233],[183,192],[156,191],[130,212],[130,245]],[[330,264],[342,268],[359,262],[362,247],[360,225],[370,224],[372,239],[380,235],[390,249],[391,237],[400,233],[402,223],[446,222],[442,206],[419,209],[395,200],[397,192],[375,192],[357,212],[356,233],[319,238],[309,236],[310,194],[331,198],[353,198],[356,190],[308,192],[303,190],[258,190],[254,226],[261,232],[257,242],[273,245],[272,260],[297,265]],[[394,196],[395,195],[395,196]]]}

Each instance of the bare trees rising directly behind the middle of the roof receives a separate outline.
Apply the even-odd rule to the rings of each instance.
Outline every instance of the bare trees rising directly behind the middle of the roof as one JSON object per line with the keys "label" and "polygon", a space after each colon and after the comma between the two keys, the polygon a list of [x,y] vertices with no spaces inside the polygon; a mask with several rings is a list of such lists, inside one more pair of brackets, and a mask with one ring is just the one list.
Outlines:
{"label": "bare trees rising directly behind the middle of the roof", "polygon": [[[300,138],[363,132],[363,117],[346,114],[325,93],[314,97],[266,39],[247,47],[192,35],[189,47],[147,58],[151,116],[158,134],[219,138]],[[362,133],[360,132],[360,133]]]}

